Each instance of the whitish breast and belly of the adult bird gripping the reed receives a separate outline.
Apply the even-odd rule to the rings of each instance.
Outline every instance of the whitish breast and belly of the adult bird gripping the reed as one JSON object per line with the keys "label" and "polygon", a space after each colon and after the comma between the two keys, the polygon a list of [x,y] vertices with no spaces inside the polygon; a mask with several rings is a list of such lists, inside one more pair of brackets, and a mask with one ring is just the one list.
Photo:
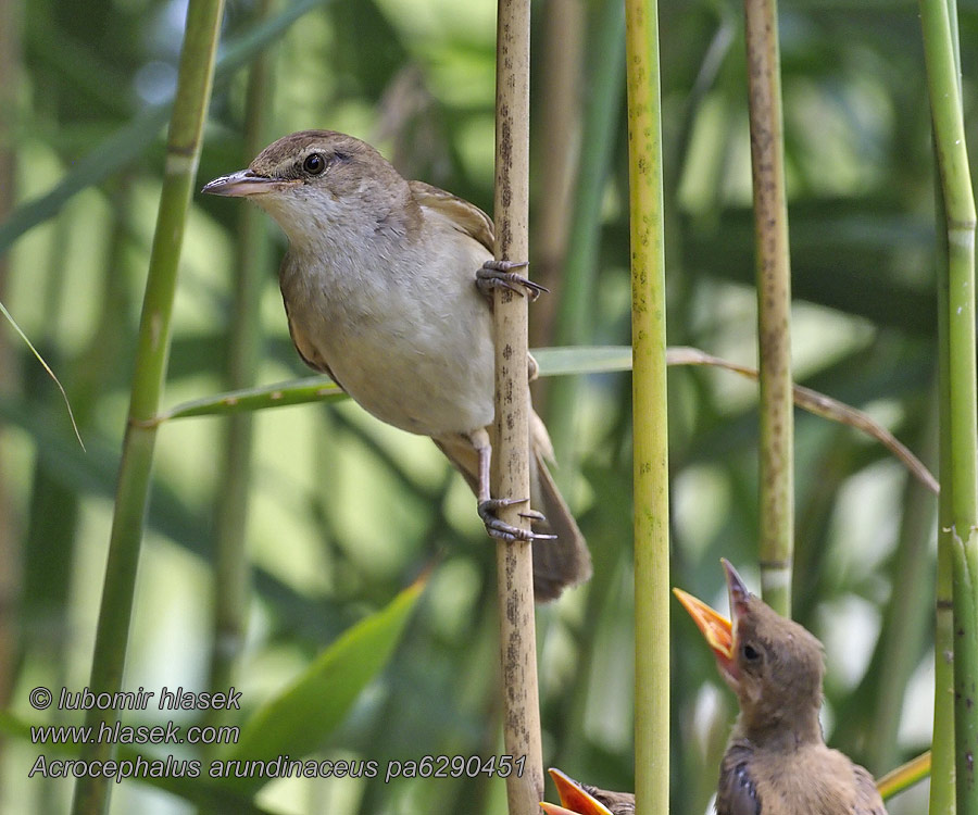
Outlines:
{"label": "whitish breast and belly of the adult bird gripping the reed", "polygon": [[465,434],[493,416],[492,319],[475,284],[490,254],[429,221],[417,242],[322,224],[309,246],[292,240],[283,296],[363,408],[411,432]]}

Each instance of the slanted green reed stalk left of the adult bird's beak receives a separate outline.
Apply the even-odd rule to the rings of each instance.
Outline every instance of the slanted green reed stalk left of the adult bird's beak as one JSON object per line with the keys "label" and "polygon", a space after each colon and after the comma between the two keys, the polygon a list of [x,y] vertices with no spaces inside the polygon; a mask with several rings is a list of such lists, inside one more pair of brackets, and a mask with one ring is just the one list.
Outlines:
{"label": "slanted green reed stalk left of the adult bird's beak", "polygon": [[[223,0],[190,0],[180,53],[176,100],[166,142],[166,166],[149,275],[139,324],[136,372],[129,418],[109,540],[105,582],[99,611],[89,687],[116,692],[122,687],[133,612],[136,568],[149,497],[156,430],[152,422],[160,404],[170,351],[170,323],[176,291],[184,227],[197,177],[203,122],[211,98],[214,57]],[[85,724],[95,732],[116,722],[115,711],[89,711]],[[83,748],[86,763],[106,761],[114,745],[95,740]],[[75,787],[73,815],[100,815],[109,801],[109,780],[85,777]]]}

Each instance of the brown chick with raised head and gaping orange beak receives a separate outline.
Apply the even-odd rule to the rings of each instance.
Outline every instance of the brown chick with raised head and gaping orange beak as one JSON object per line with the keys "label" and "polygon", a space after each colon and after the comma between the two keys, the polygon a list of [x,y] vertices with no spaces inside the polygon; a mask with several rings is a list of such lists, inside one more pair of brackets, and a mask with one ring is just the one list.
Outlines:
{"label": "brown chick with raised head and gaping orange beak", "polygon": [[717,815],[886,815],[869,773],[825,744],[822,643],[723,564],[732,625],[674,589],[740,702],[720,764]]}

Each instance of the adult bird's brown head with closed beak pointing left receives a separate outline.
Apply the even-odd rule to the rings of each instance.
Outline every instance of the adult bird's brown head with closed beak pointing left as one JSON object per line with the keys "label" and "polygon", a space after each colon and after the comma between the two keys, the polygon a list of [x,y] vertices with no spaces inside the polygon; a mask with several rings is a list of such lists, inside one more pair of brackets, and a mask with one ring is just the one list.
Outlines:
{"label": "adult bird's brown head with closed beak pointing left", "polygon": [[393,213],[403,213],[406,189],[366,142],[334,130],[302,130],[269,145],[248,170],[215,178],[202,192],[254,201],[293,244],[303,247],[330,230],[369,234]]}

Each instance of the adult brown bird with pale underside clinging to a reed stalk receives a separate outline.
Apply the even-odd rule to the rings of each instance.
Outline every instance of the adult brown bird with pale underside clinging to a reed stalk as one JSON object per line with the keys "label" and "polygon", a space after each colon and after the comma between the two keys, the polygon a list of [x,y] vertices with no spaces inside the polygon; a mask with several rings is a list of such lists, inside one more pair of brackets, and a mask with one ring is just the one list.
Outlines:
{"label": "adult brown bird with pale underside clinging to a reed stalk", "polygon": [[[513,271],[523,264],[493,261],[489,216],[405,180],[369,145],[333,130],[286,136],[203,191],[248,198],[278,223],[289,239],[279,284],[299,355],[377,418],[431,437],[476,493],[491,536],[534,540],[537,600],[588,579],[590,555],[547,468],[553,451],[532,411],[531,494],[490,496],[494,329],[487,293],[503,286],[536,297],[540,287]],[[539,531],[497,517],[501,505],[527,498],[546,515],[525,513]]]}

